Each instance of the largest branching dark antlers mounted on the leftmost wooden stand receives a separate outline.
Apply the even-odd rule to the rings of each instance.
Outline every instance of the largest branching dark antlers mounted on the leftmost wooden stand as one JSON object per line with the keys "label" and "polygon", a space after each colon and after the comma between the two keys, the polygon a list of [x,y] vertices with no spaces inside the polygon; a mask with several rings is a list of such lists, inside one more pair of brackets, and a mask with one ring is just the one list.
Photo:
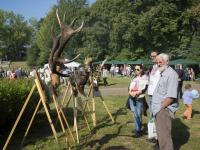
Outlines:
{"label": "largest branching dark antlers mounted on the leftmost wooden stand", "polygon": [[[77,18],[73,19],[70,25],[66,25],[63,21],[60,20],[59,14],[58,14],[58,9],[56,10],[56,17],[58,20],[58,23],[60,25],[61,33],[55,37],[54,35],[54,30],[53,28],[51,29],[51,32],[53,34],[53,44],[52,44],[52,49],[51,53],[49,55],[48,63],[49,63],[49,68],[51,70],[51,80],[52,80],[52,85],[56,86],[56,84],[59,83],[59,76],[62,77],[67,77],[69,76],[68,74],[63,74],[59,72],[59,68],[63,66],[66,63],[70,63],[77,59],[79,55],[74,57],[72,60],[65,60],[64,58],[61,58],[61,54],[63,52],[63,49],[69,39],[75,34],[81,31],[83,28],[84,22],[82,22],[81,26],[78,27],[77,29],[73,29],[72,27],[74,26],[75,21]],[[65,18],[65,17],[64,17]]]}

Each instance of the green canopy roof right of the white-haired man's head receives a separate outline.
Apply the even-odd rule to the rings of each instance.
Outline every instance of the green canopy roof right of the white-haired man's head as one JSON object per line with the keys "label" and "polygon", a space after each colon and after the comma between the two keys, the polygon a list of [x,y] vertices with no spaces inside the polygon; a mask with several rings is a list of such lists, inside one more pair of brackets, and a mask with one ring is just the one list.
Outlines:
{"label": "green canopy roof right of the white-haired man's head", "polygon": [[200,64],[199,61],[195,60],[189,60],[189,59],[176,59],[172,60],[169,62],[170,65],[177,65],[177,64],[182,64],[182,65],[198,65]]}

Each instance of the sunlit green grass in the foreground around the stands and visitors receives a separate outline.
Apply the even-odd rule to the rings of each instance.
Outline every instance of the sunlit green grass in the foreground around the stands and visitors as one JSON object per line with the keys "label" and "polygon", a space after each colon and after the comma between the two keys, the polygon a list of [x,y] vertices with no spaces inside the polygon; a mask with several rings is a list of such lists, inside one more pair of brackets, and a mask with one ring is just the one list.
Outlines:
{"label": "sunlit green grass in the foreground around the stands and visitors", "polygon": [[[80,133],[80,145],[75,145],[73,149],[134,149],[134,150],[150,150],[151,144],[146,141],[147,135],[141,138],[134,139],[132,137],[132,130],[134,129],[134,123],[132,114],[124,106],[127,100],[126,96],[112,96],[104,98],[107,106],[113,114],[116,122],[113,124],[106,113],[101,101],[96,99],[97,108],[97,126],[92,127],[91,117],[88,116],[90,127],[92,127],[92,134],[86,128],[83,118],[80,116],[78,119],[79,133]],[[192,120],[185,121],[182,119],[182,113],[184,111],[184,105],[180,103],[180,109],[176,114],[176,118],[173,120],[173,141],[174,144],[181,150],[197,150],[200,148],[200,99],[194,101],[193,110],[194,115]],[[51,112],[55,117],[55,111]],[[71,115],[70,115],[71,114]],[[79,113],[80,114],[80,113]],[[67,118],[72,126],[72,110],[68,109]],[[147,117],[143,117],[143,124],[145,127],[148,122]],[[59,134],[61,134],[60,127],[57,127]],[[22,131],[17,131],[17,134],[12,139],[9,149],[16,149],[19,145]],[[61,148],[66,145],[64,143],[64,137],[59,138]],[[58,149],[52,136],[50,126],[47,122],[45,114],[39,114],[31,128],[25,145],[24,150],[55,150]]]}

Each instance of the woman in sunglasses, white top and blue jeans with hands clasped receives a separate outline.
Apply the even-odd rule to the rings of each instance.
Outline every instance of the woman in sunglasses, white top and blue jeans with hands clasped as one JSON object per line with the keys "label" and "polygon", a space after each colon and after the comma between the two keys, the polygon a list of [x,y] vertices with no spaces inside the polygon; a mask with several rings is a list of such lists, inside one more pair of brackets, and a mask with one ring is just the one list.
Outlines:
{"label": "woman in sunglasses, white top and blue jeans with hands clasped", "polygon": [[142,112],[145,111],[145,91],[148,77],[144,74],[143,66],[135,66],[135,77],[129,87],[129,104],[135,122],[135,138],[142,136]]}

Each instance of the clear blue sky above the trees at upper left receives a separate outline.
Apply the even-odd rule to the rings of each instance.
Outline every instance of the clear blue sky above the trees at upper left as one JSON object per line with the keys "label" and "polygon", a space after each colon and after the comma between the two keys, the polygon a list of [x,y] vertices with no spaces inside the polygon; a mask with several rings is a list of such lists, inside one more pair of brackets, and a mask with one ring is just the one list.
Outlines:
{"label": "clear blue sky above the trees at upper left", "polygon": [[[13,11],[15,14],[21,14],[25,19],[32,17],[39,20],[46,16],[47,12],[58,0],[0,0],[0,9],[4,11]],[[88,0],[90,4],[96,0]]]}

